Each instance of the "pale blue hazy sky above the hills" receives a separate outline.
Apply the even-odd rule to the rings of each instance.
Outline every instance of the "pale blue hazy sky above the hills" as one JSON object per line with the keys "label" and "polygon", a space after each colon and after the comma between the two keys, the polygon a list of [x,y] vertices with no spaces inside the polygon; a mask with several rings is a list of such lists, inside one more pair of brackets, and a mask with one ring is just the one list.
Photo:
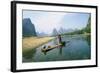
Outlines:
{"label": "pale blue hazy sky above the hills", "polygon": [[88,13],[23,11],[23,18],[30,18],[37,32],[52,33],[56,28],[81,29],[87,25]]}

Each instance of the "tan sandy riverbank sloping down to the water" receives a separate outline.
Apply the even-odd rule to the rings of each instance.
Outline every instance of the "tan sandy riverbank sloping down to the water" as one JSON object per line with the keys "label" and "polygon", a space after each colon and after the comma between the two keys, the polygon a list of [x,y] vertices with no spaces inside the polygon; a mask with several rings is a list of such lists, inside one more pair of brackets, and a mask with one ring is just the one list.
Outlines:
{"label": "tan sandy riverbank sloping down to the water", "polygon": [[25,52],[37,48],[54,38],[55,37],[25,37],[22,39],[22,51]]}

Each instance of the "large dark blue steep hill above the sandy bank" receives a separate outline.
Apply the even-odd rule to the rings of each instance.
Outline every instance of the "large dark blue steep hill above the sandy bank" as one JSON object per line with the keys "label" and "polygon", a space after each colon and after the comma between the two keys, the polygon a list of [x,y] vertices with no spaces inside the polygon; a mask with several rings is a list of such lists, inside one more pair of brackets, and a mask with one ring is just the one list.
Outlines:
{"label": "large dark blue steep hill above the sandy bank", "polygon": [[36,30],[34,24],[32,24],[29,18],[23,19],[23,36],[36,36]]}

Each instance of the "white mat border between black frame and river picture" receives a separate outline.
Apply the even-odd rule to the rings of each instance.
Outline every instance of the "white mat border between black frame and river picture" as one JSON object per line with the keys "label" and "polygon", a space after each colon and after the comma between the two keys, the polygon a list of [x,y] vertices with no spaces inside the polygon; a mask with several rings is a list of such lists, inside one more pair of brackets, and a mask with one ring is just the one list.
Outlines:
{"label": "white mat border between black frame and river picture", "polygon": [[[22,9],[29,10],[48,10],[48,11],[70,11],[70,12],[86,12],[91,13],[91,60],[77,60],[77,61],[58,61],[58,62],[36,62],[36,63],[22,63]],[[96,28],[96,10],[93,8],[81,7],[60,7],[60,6],[45,6],[45,5],[28,5],[17,4],[17,47],[16,47],[16,64],[17,70],[22,69],[38,69],[38,68],[52,68],[52,67],[72,67],[85,66],[96,64],[96,45],[95,45],[95,28]]]}

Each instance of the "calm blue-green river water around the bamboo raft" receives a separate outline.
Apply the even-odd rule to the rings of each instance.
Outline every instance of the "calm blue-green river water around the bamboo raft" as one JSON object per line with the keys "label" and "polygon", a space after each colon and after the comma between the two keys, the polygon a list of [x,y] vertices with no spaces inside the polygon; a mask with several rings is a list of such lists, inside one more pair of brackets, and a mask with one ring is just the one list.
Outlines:
{"label": "calm blue-green river water around the bamboo raft", "polygon": [[30,57],[23,58],[23,62],[85,60],[91,58],[90,36],[63,36],[62,41],[66,42],[65,46],[54,48],[46,53],[41,51],[43,46],[54,46],[57,44],[57,39],[34,49]]}

